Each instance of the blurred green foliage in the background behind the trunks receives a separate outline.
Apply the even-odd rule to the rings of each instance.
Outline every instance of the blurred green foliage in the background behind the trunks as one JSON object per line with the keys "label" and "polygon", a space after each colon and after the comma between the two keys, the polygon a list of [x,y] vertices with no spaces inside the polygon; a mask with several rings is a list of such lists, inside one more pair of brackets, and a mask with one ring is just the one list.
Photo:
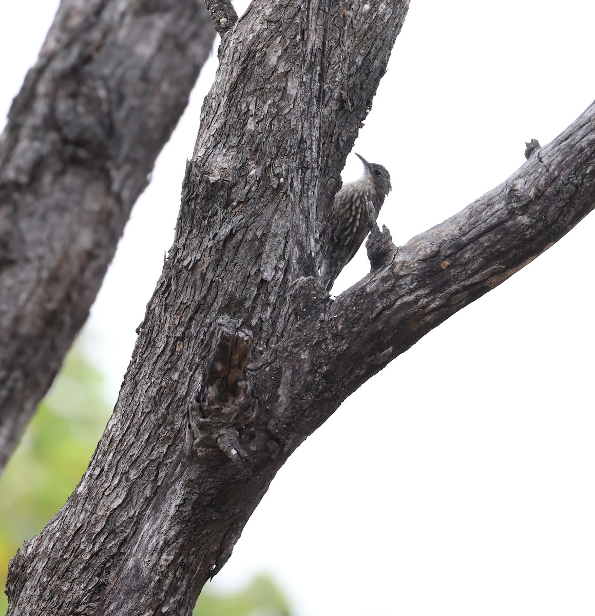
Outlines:
{"label": "blurred green foliage in the background behind the trunks", "polygon": [[[103,378],[76,345],[52,389],[39,404],[17,451],[0,478],[0,583],[23,540],[38,535],[75,489],[111,413]],[[0,614],[6,614],[0,594]],[[242,590],[204,591],[193,616],[290,616],[270,577]]]}

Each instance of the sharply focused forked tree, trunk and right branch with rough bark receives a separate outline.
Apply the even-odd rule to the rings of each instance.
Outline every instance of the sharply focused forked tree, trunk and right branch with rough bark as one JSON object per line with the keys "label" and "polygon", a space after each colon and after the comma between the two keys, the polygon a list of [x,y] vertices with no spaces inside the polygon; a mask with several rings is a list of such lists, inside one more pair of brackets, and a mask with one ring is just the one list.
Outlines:
{"label": "sharply focused forked tree, trunk and right branch with rough bark", "polygon": [[318,229],[407,7],[256,0],[224,33],[113,418],[67,505],[13,559],[9,614],[190,614],[306,436],[593,208],[592,106],[402,248],[374,230],[373,272],[331,301]]}

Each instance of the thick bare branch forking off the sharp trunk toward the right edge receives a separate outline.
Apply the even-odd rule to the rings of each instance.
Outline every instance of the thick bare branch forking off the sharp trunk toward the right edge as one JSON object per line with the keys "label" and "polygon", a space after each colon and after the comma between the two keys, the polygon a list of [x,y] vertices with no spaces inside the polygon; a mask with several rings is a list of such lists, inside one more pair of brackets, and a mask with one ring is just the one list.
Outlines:
{"label": "thick bare branch forking off the sharp trunk toward the right edge", "polygon": [[506,182],[398,252],[373,233],[384,267],[249,366],[254,395],[276,409],[277,438],[311,434],[392,359],[569,232],[595,208],[593,160],[595,102]]}

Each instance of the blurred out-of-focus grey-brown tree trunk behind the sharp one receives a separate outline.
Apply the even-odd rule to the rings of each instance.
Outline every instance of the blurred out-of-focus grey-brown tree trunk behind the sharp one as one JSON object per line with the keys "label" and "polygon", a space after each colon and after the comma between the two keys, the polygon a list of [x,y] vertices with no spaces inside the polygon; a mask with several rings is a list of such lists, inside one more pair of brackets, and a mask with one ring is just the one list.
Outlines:
{"label": "blurred out-of-focus grey-brown tree trunk behind the sharp one", "polygon": [[214,30],[197,0],[63,0],[0,140],[0,472],[83,325]]}

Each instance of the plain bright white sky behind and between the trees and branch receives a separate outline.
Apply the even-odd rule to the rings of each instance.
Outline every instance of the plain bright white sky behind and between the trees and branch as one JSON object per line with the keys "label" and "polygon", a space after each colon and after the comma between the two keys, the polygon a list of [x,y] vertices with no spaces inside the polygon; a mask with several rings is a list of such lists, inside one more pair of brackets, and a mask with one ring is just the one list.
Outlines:
{"label": "plain bright white sky behind and between the trees and branch", "polygon": [[[3,114],[56,6],[2,2]],[[525,140],[548,143],[591,103],[594,23],[585,0],[411,0],[354,148],[391,172],[379,223],[395,243],[499,184]],[[213,75],[211,61],[92,310],[112,397]],[[360,172],[350,156],[344,178]],[[216,583],[269,570],[299,616],[593,614],[594,232],[591,216],[352,395],[281,469]],[[367,269],[359,254],[336,291]]]}

